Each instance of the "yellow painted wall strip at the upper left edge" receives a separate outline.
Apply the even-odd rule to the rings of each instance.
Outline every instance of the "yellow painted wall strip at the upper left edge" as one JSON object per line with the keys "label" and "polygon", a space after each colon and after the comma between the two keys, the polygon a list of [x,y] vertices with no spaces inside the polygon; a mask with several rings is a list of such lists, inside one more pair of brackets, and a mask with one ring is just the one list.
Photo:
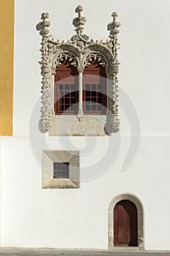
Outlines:
{"label": "yellow painted wall strip at the upper left edge", "polygon": [[12,135],[14,0],[0,0],[0,135]]}

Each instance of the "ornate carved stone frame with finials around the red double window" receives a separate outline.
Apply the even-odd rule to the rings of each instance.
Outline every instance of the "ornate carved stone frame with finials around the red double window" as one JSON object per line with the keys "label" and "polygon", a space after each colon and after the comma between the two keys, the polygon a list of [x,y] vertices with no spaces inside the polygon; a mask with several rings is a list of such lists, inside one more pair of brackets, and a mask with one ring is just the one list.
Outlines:
{"label": "ornate carved stone frame with finials around the red double window", "polygon": [[76,27],[76,34],[67,42],[53,39],[50,35],[50,21],[47,12],[42,13],[42,21],[39,22],[37,29],[42,36],[42,60],[39,64],[42,66],[42,116],[39,121],[39,129],[42,133],[50,131],[52,126],[52,117],[55,115],[53,107],[53,83],[56,68],[63,60],[69,61],[71,65],[77,67],[79,73],[79,107],[77,118],[81,121],[83,117],[82,110],[82,72],[93,60],[105,67],[107,74],[107,118],[105,131],[107,135],[119,132],[120,118],[118,111],[118,66],[117,51],[119,43],[117,34],[119,33],[120,23],[117,22],[117,12],[112,13],[112,22],[109,23],[109,38],[104,40],[89,39],[84,34],[84,25],[86,18],[82,17],[82,6],[75,10],[78,17],[74,18],[73,25]]}

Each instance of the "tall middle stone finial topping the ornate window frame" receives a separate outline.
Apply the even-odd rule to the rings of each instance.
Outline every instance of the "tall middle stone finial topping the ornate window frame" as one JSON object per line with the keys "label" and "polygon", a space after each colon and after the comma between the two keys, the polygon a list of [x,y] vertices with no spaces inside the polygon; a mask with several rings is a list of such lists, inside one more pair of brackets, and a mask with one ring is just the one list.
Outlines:
{"label": "tall middle stone finial topping the ornate window frame", "polygon": [[83,29],[84,29],[84,25],[87,22],[87,19],[85,17],[82,17],[82,13],[81,13],[82,10],[83,10],[83,8],[81,5],[77,6],[75,12],[78,13],[78,17],[74,18],[74,20],[73,20],[73,25],[77,28],[76,29],[77,34],[81,35],[81,36],[82,36]]}

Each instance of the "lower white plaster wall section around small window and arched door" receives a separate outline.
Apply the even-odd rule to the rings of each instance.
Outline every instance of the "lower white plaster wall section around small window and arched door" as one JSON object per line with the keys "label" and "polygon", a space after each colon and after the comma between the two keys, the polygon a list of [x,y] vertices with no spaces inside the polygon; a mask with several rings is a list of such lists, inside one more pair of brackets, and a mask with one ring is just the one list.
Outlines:
{"label": "lower white plaster wall section around small window and arched door", "polygon": [[[37,143],[39,137],[34,140]],[[115,138],[111,140],[114,144]],[[79,147],[82,178],[91,166],[96,168],[98,152],[85,154],[85,143],[82,138],[79,141],[84,145]],[[101,157],[98,178],[92,172],[92,179],[82,181],[80,189],[41,189],[41,154],[31,149],[28,138],[2,138],[1,246],[107,248],[109,203],[116,195],[129,192],[144,206],[145,249],[170,249],[170,140],[142,138],[134,163],[123,172],[128,143],[128,138],[122,138],[114,163],[108,144],[98,138],[95,145],[108,153]],[[61,150],[63,145],[61,139],[48,138],[51,149]],[[112,166],[101,175],[106,162]]]}

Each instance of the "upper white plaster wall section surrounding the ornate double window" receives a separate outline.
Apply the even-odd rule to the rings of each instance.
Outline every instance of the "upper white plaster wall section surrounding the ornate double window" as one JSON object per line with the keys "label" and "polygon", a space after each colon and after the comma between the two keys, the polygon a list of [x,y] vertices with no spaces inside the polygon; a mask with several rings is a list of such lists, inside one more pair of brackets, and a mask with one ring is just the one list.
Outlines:
{"label": "upper white plaster wall section surrounding the ornate double window", "polygon": [[[36,24],[41,13],[50,13],[55,39],[69,39],[74,34],[72,20],[78,4],[88,18],[85,33],[93,39],[106,39],[112,12],[119,13],[120,86],[134,102],[142,134],[169,135],[169,0],[15,0],[14,134],[28,135],[31,113],[35,112],[37,123],[40,116],[41,37]],[[123,102],[120,97],[122,107]],[[131,133],[123,113],[121,130],[125,135]]]}

